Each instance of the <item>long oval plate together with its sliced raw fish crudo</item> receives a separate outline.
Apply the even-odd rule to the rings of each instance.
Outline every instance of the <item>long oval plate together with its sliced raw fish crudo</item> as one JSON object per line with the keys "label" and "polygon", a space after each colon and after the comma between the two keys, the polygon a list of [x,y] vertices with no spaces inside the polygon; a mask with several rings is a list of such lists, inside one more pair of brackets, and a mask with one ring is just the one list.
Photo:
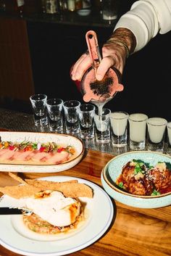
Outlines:
{"label": "long oval plate together with its sliced raw fish crudo", "polygon": [[83,157],[83,142],[58,133],[1,131],[0,170],[54,173],[68,170]]}

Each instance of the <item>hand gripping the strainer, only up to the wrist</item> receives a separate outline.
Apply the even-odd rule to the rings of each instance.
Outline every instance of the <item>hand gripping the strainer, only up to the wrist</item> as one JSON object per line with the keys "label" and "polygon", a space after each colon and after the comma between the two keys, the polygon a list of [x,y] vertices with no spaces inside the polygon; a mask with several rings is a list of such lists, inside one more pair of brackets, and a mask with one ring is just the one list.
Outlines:
{"label": "hand gripping the strainer, only up to the wrist", "polygon": [[[117,70],[119,70],[122,74],[127,55],[128,53],[124,46],[120,46],[110,41],[104,44],[102,48],[103,58],[98,69],[96,70],[96,79],[102,80],[110,67],[116,67]],[[73,65],[71,71],[72,80],[81,80],[83,74],[90,66],[91,58],[89,57],[88,52],[86,52],[81,55],[80,59],[78,59],[75,65]]]}

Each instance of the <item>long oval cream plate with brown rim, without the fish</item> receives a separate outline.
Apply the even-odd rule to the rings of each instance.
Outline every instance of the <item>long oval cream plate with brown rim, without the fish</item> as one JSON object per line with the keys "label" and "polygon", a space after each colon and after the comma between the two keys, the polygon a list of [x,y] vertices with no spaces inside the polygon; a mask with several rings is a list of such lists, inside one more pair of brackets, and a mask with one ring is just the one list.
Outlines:
{"label": "long oval cream plate with brown rim, without the fish", "polygon": [[75,136],[55,133],[34,133],[34,132],[0,132],[1,141],[36,141],[40,143],[56,142],[57,144],[72,145],[76,149],[75,157],[68,162],[59,165],[17,165],[0,164],[0,171],[4,172],[22,172],[22,173],[56,173],[62,170],[68,170],[77,165],[83,157],[83,142]]}

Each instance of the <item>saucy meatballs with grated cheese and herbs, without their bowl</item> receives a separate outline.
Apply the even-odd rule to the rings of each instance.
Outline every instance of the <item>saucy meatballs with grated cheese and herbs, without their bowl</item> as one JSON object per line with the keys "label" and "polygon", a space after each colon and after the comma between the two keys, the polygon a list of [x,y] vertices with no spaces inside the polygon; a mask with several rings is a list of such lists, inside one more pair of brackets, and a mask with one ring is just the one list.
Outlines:
{"label": "saucy meatballs with grated cheese and herbs, without their bowl", "polygon": [[123,166],[116,183],[130,194],[158,196],[171,191],[171,169],[166,162],[152,166],[142,160],[131,160]]}

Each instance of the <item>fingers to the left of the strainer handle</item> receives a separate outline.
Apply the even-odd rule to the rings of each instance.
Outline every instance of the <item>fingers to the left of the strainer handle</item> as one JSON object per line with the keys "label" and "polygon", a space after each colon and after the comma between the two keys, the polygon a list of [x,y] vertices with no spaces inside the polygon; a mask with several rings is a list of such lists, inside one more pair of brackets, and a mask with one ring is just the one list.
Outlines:
{"label": "fingers to the left of the strainer handle", "polygon": [[72,80],[81,80],[83,74],[91,66],[91,59],[87,53],[81,55],[80,59],[72,67],[71,78]]}

